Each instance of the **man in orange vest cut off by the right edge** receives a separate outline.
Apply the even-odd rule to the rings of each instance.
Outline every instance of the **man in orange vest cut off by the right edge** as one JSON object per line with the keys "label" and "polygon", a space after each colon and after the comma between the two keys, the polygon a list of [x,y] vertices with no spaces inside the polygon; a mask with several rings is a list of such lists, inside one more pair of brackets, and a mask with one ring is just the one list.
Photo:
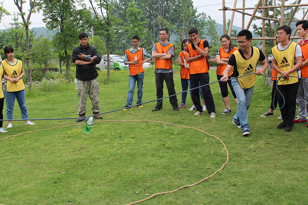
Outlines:
{"label": "man in orange vest cut off by the right edge", "polygon": [[[303,56],[303,65],[301,66],[301,77],[308,77],[308,20],[299,20],[296,23],[297,33],[302,39],[298,42]],[[294,123],[307,122],[307,103],[308,103],[308,82],[305,79],[299,79],[299,88],[297,92],[298,99],[298,118]],[[306,125],[308,127],[308,124]]]}

